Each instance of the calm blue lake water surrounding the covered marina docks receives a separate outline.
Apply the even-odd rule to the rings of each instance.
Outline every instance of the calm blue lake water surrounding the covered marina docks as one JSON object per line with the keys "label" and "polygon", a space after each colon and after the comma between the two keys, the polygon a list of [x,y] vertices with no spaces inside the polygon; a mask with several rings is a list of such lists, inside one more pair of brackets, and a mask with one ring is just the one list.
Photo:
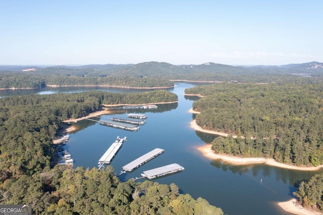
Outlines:
{"label": "calm blue lake water surrounding the covered marina docks", "polygon": [[[154,148],[165,149],[165,152],[132,173],[121,175],[121,181],[140,177],[140,174],[146,170],[177,163],[185,170],[153,181],[163,184],[175,183],[182,193],[189,193],[195,199],[202,197],[210,204],[221,207],[225,214],[291,214],[282,210],[277,202],[291,199],[292,192],[296,190],[295,183],[309,179],[315,173],[322,171],[295,171],[266,165],[233,166],[203,157],[196,148],[211,142],[216,136],[196,132],[190,128],[190,122],[194,116],[188,113],[188,110],[192,107],[193,100],[190,100],[191,97],[184,96],[183,93],[185,88],[194,85],[177,84],[175,88],[169,90],[178,95],[177,104],[158,105],[157,110],[149,111],[128,110],[127,113],[145,113],[148,116],[146,124],[141,126],[137,132],[106,127],[89,120],[75,123],[74,125],[79,130],[71,132],[70,140],[65,147],[71,153],[75,167],[97,168],[98,159],[116,137],[127,136],[128,141],[123,144],[111,163],[116,174],[122,171],[124,165]],[[36,93],[85,90],[90,89],[84,87],[65,88],[65,90],[47,89]],[[115,114],[126,117],[127,113],[120,110]],[[101,117],[109,118],[111,115]],[[262,182],[260,182],[261,179]],[[139,181],[144,180],[146,179]]]}

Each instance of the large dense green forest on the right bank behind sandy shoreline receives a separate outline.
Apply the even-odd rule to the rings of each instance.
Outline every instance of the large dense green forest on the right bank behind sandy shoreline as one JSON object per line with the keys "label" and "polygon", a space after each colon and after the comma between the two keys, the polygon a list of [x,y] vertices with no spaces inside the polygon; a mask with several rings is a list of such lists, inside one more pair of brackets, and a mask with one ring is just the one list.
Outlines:
{"label": "large dense green forest on the right bank behind sandy shoreline", "polygon": [[212,141],[216,152],[323,164],[323,85],[223,83],[185,93],[206,95],[193,103],[200,127],[231,134]]}

